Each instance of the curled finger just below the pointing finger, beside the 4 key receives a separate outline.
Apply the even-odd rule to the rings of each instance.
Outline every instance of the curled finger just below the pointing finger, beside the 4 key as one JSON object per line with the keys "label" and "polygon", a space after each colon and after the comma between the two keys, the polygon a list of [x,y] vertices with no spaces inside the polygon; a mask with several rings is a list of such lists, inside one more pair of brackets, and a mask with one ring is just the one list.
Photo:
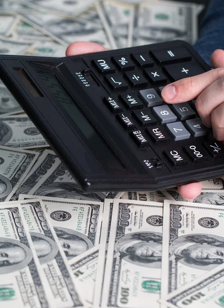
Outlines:
{"label": "curled finger just below the pointing finger, beside the 4 key", "polygon": [[[204,125],[211,127],[211,113],[224,101],[224,76],[209,85],[196,99],[195,106]],[[221,110],[220,110],[221,111]],[[223,110],[222,110],[223,111]],[[214,114],[215,118],[216,115]],[[223,117],[223,113],[222,113]],[[221,117],[219,117],[221,119]]]}

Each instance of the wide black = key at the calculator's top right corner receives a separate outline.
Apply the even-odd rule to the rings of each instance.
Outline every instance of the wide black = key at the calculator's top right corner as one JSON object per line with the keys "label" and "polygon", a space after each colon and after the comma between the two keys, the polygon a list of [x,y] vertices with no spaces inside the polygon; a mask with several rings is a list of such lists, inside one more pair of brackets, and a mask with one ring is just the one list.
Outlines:
{"label": "wide black = key at the calculator's top right corner", "polygon": [[152,51],[155,59],[162,64],[169,62],[184,60],[191,60],[191,54],[185,47],[171,47],[168,49],[158,49]]}

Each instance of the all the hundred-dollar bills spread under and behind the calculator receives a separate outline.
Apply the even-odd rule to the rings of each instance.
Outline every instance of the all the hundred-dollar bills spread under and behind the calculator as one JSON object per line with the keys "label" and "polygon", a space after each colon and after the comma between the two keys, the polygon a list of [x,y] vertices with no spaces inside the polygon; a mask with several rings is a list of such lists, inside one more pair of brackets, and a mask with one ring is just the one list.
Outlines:
{"label": "all the hundred-dollar bills spread under and behind the calculator", "polygon": [[[0,0],[0,53],[64,56],[180,38],[202,6],[160,0]],[[224,184],[84,192],[0,83],[0,305],[224,306]],[[223,222],[223,225],[222,225]]]}

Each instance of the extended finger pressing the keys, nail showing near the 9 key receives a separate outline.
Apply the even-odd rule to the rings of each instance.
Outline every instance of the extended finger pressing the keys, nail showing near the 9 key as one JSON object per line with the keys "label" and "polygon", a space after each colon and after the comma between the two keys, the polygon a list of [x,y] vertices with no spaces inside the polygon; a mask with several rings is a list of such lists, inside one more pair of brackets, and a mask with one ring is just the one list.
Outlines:
{"label": "extended finger pressing the keys, nail showing near the 9 key", "polygon": [[162,90],[162,99],[171,104],[188,102],[198,97],[203,90],[223,75],[224,68],[216,68],[200,75],[178,80]]}

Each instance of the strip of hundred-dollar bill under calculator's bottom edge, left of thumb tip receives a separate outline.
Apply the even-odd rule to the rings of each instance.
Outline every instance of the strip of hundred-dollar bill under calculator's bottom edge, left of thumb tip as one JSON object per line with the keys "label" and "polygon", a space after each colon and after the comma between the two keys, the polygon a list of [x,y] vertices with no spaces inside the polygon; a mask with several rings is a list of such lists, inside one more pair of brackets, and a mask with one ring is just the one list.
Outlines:
{"label": "strip of hundred-dollar bill under calculator's bottom edge, left of thumb tip", "polygon": [[166,196],[161,190],[157,191],[125,191],[122,199],[139,200],[139,201],[154,201],[164,202]]}

